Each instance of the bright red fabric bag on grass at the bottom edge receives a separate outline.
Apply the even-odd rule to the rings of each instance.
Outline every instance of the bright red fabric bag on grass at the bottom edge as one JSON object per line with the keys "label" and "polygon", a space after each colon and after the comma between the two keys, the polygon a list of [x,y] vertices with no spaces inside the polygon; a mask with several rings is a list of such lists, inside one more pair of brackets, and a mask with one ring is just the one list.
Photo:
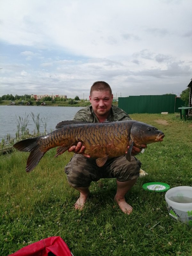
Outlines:
{"label": "bright red fabric bag on grass at the bottom edge", "polygon": [[72,256],[67,244],[60,236],[51,236],[27,245],[8,256]]}

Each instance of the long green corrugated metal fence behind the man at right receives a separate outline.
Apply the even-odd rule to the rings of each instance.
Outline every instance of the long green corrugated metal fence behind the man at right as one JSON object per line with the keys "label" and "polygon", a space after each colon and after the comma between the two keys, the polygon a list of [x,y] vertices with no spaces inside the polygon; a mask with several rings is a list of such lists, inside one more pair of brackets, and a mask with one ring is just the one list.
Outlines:
{"label": "long green corrugated metal fence behind the man at right", "polygon": [[[177,98],[175,96],[175,94],[164,94],[121,97],[118,98],[118,106],[128,114],[156,114],[161,112],[174,113],[176,110],[175,104]],[[179,100],[177,104],[180,104]],[[176,112],[178,111],[176,110]]]}

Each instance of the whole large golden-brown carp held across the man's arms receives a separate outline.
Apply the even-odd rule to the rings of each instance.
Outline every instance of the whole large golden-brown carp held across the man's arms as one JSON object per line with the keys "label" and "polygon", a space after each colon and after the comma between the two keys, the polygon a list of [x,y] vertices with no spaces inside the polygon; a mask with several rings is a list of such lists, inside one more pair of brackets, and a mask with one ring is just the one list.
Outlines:
{"label": "whole large golden-brown carp held across the man's arms", "polygon": [[134,120],[108,123],[62,121],[56,128],[47,135],[21,140],[13,145],[20,151],[30,152],[27,172],[36,167],[49,149],[58,146],[55,156],[80,141],[85,147],[84,153],[96,158],[97,165],[101,167],[109,157],[122,156],[126,151],[126,158],[131,161],[133,145],[141,148],[142,144],[162,141],[164,138],[164,133],[155,127]]}

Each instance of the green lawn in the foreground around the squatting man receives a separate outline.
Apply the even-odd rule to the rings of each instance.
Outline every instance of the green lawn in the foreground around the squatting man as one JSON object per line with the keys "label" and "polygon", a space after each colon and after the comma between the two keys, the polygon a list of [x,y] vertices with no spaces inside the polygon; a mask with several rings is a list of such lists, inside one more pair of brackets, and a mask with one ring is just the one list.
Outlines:
{"label": "green lawn in the foreground around the squatting man", "polygon": [[165,193],[142,189],[153,181],[171,187],[192,185],[192,120],[184,122],[175,114],[131,117],[165,133],[163,142],[148,145],[138,155],[148,175],[126,195],[131,215],[113,201],[115,179],[93,182],[84,210],[74,209],[78,192],[68,186],[64,173],[71,153],[54,158],[51,149],[30,173],[25,172],[28,153],[15,150],[0,156],[0,255],[49,236],[61,236],[74,256],[192,255],[192,229],[169,216]]}

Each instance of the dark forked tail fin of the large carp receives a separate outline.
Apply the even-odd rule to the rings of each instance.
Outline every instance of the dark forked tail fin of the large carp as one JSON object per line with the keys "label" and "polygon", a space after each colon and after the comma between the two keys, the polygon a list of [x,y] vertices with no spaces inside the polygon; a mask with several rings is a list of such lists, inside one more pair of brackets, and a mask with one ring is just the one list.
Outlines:
{"label": "dark forked tail fin of the large carp", "polygon": [[14,148],[17,148],[20,151],[30,152],[27,159],[26,172],[31,172],[46,153],[46,151],[42,152],[39,149],[39,145],[37,143],[38,139],[39,137],[29,138],[21,140],[13,145]]}

